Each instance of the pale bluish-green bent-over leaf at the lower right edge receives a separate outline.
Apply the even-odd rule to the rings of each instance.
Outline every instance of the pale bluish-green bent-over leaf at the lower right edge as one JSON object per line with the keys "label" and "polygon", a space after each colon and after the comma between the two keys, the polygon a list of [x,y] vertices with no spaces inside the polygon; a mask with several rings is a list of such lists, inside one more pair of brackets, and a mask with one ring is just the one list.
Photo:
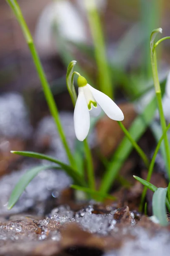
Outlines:
{"label": "pale bluish-green bent-over leaf at the lower right edge", "polygon": [[166,195],[167,188],[159,188],[153,194],[152,199],[152,207],[153,207],[153,215],[159,220],[161,226],[167,226],[167,213],[166,213]]}

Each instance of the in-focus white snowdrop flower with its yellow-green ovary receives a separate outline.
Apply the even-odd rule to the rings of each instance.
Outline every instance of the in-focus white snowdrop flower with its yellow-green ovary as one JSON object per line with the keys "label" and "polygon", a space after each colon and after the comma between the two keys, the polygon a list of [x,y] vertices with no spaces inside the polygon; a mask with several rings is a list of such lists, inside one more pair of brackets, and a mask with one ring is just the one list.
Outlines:
{"label": "in-focus white snowdrop flower with its yellow-green ovary", "polygon": [[106,115],[116,121],[122,121],[124,115],[121,109],[105,93],[94,89],[83,76],[77,80],[79,87],[78,98],[74,109],[74,130],[78,140],[83,141],[88,135],[90,129],[90,113],[94,108],[98,110],[99,106]]}

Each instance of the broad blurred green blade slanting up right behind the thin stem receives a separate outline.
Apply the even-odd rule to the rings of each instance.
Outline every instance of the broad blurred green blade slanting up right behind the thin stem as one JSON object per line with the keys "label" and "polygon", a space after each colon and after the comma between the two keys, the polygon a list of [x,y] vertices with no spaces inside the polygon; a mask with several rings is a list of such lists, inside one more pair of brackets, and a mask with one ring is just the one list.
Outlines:
{"label": "broad blurred green blade slanting up right behind the thin stem", "polygon": [[[136,117],[129,129],[129,134],[133,140],[138,141],[139,138],[146,131],[147,126],[152,121],[156,111],[156,98],[154,97],[147,107],[144,109],[143,113]],[[101,182],[100,192],[107,193],[111,188],[120,168],[125,162],[126,158],[129,156],[133,149],[133,145],[130,143],[127,137],[124,137],[116,152],[113,155],[107,171]]]}

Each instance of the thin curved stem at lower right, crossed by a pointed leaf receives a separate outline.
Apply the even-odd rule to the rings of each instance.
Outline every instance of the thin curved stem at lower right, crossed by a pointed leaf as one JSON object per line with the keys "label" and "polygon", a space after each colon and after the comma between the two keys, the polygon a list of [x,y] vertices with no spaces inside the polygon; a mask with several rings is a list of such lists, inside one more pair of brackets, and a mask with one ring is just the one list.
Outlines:
{"label": "thin curved stem at lower right, crossed by a pointed leaf", "polygon": [[[150,182],[150,178],[151,178],[152,173],[153,173],[153,167],[154,167],[154,164],[155,164],[155,160],[156,160],[156,156],[158,154],[159,148],[161,146],[161,142],[162,142],[162,140],[164,140],[164,137],[166,136],[167,131],[169,130],[169,128],[170,128],[170,124],[167,126],[164,133],[162,134],[162,136],[161,136],[161,138],[160,138],[160,140],[159,140],[159,142],[156,146],[156,149],[154,151],[152,160],[150,162],[149,170],[148,170],[148,173],[147,173],[147,178],[146,178],[146,181],[148,181],[148,182]],[[144,206],[144,199],[145,199],[145,196],[146,196],[146,192],[147,192],[147,187],[144,186],[142,196],[141,196],[141,202],[140,202],[140,206],[139,206],[139,211],[140,212],[142,212],[142,209],[143,209],[143,206]]]}

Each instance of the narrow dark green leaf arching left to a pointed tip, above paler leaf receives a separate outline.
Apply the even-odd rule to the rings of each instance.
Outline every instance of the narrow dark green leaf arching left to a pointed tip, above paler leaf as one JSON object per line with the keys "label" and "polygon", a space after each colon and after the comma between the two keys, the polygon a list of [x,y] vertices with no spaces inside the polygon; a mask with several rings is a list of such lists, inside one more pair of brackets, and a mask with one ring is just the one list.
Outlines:
{"label": "narrow dark green leaf arching left to a pointed tip, above paler leaf", "polygon": [[68,166],[65,163],[58,161],[57,159],[55,159],[53,157],[49,157],[49,156],[46,156],[45,154],[40,154],[40,153],[36,153],[36,152],[31,152],[31,151],[11,151],[11,153],[18,154],[18,155],[21,155],[24,157],[33,157],[33,158],[48,160],[50,162],[57,163],[63,170],[65,170],[65,172],[70,177],[72,177],[72,179],[74,180],[74,182],[76,184],[79,184],[81,186],[86,186],[84,178],[82,177],[82,175],[80,175],[77,172],[77,170],[73,169],[73,167]]}

